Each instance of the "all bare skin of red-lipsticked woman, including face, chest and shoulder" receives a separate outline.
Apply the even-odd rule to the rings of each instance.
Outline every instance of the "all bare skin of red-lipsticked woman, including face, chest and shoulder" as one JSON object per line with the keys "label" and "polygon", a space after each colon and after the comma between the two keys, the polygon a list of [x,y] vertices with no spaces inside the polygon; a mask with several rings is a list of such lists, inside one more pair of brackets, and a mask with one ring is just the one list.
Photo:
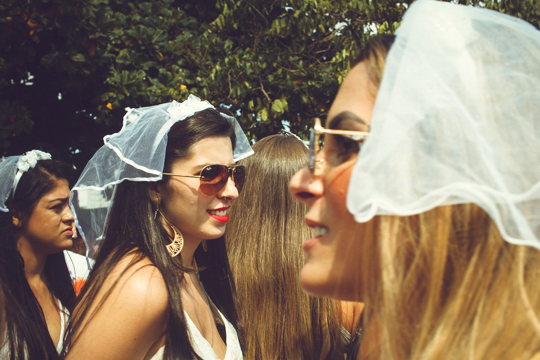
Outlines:
{"label": "all bare skin of red-lipsticked woman, including face, chest and shoulder", "polygon": [[[190,150],[192,153],[190,157],[179,159],[172,164],[171,173],[199,175],[206,165],[234,165],[231,139],[228,137],[202,139],[195,142]],[[201,192],[199,178],[165,175],[164,180],[149,182],[151,200],[155,201],[156,198],[160,200],[159,210],[163,214],[161,221],[171,239],[174,234],[165,219],[182,233],[184,247],[176,259],[181,260],[184,266],[191,267],[193,253],[200,242],[203,239],[208,240],[208,246],[211,247],[213,245],[211,239],[217,239],[225,232],[226,222],[212,218],[207,210],[231,206],[238,197],[238,191],[231,179],[224,188],[212,196]],[[104,291],[111,287],[132,258],[132,255],[126,255],[114,267],[93,304],[99,304]],[[148,360],[165,345],[169,303],[167,286],[161,273],[151,265],[150,260],[146,258],[126,271],[122,281],[113,288],[111,295],[95,317],[80,333],[77,342],[72,344],[67,360]],[[211,324],[203,289],[199,286],[197,276],[186,274],[185,279],[197,308],[205,338],[208,342],[212,342],[213,327],[213,350],[219,359],[223,359],[227,348],[221,341],[213,320]],[[200,331],[185,286],[181,292],[181,301],[184,310]],[[96,305],[92,305],[89,311],[95,308]]]}

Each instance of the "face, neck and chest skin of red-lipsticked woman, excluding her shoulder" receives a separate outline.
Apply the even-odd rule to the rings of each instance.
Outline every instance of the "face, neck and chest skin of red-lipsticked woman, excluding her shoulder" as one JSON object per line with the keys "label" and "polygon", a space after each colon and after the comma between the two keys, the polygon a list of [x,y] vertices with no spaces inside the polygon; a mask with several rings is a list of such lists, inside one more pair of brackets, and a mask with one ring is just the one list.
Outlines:
{"label": "face, neck and chest skin of red-lipsticked woman, excluding her shoulder", "polygon": [[[190,158],[174,162],[171,173],[199,175],[201,169],[206,165],[234,165],[231,139],[228,137],[208,137],[200,140],[192,146],[192,153],[193,156]],[[163,225],[171,237],[174,234],[166,221],[180,230],[184,237],[184,247],[181,251],[182,261],[184,266],[191,267],[193,254],[200,242],[210,240],[208,246],[212,246],[211,239],[217,239],[225,233],[227,223],[215,219],[207,210],[230,208],[234,200],[238,198],[238,190],[232,179],[229,179],[227,185],[219,193],[208,196],[201,192],[199,178],[185,178],[183,176],[168,176],[164,185],[156,185],[153,188],[152,193],[155,193],[156,197],[161,200],[159,210],[167,219],[162,220]],[[197,308],[199,320],[203,325],[205,338],[209,343],[212,343],[212,327],[203,289],[199,286],[195,274],[186,276],[186,281],[195,308]],[[195,326],[199,328],[193,303],[185,287],[182,293],[182,305]],[[222,359],[225,357],[227,348],[217,334],[213,321],[212,325],[214,327],[213,349],[218,358]]]}

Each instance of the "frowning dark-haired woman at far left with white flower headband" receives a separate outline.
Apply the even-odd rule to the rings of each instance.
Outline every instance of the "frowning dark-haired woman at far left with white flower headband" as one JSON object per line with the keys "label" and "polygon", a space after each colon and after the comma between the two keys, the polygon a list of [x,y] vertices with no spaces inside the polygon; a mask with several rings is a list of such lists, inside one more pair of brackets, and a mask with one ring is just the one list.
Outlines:
{"label": "frowning dark-haired woman at far left with white flower headband", "polygon": [[75,302],[63,253],[73,244],[66,180],[71,170],[37,150],[0,160],[2,358],[53,359],[62,349]]}

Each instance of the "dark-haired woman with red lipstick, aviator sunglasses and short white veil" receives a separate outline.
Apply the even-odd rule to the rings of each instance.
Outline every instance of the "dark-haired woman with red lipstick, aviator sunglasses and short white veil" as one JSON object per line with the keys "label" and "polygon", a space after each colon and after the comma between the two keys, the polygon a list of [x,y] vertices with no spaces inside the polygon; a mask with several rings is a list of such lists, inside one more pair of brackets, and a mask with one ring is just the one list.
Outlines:
{"label": "dark-haired woman with red lipstick, aviator sunglasses and short white veil", "polygon": [[242,359],[222,235],[245,175],[234,161],[252,153],[233,117],[192,95],[132,109],[105,137],[72,189],[97,253],[66,358]]}

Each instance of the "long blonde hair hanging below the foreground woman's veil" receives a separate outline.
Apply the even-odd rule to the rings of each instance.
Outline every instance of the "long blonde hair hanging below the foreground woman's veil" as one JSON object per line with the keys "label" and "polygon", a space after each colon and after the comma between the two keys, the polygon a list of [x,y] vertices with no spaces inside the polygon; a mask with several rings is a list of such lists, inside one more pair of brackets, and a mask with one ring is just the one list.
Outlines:
{"label": "long blonde hair hanging below the foreground woman's veil", "polygon": [[540,256],[475,204],[359,224],[380,359],[540,358]]}

